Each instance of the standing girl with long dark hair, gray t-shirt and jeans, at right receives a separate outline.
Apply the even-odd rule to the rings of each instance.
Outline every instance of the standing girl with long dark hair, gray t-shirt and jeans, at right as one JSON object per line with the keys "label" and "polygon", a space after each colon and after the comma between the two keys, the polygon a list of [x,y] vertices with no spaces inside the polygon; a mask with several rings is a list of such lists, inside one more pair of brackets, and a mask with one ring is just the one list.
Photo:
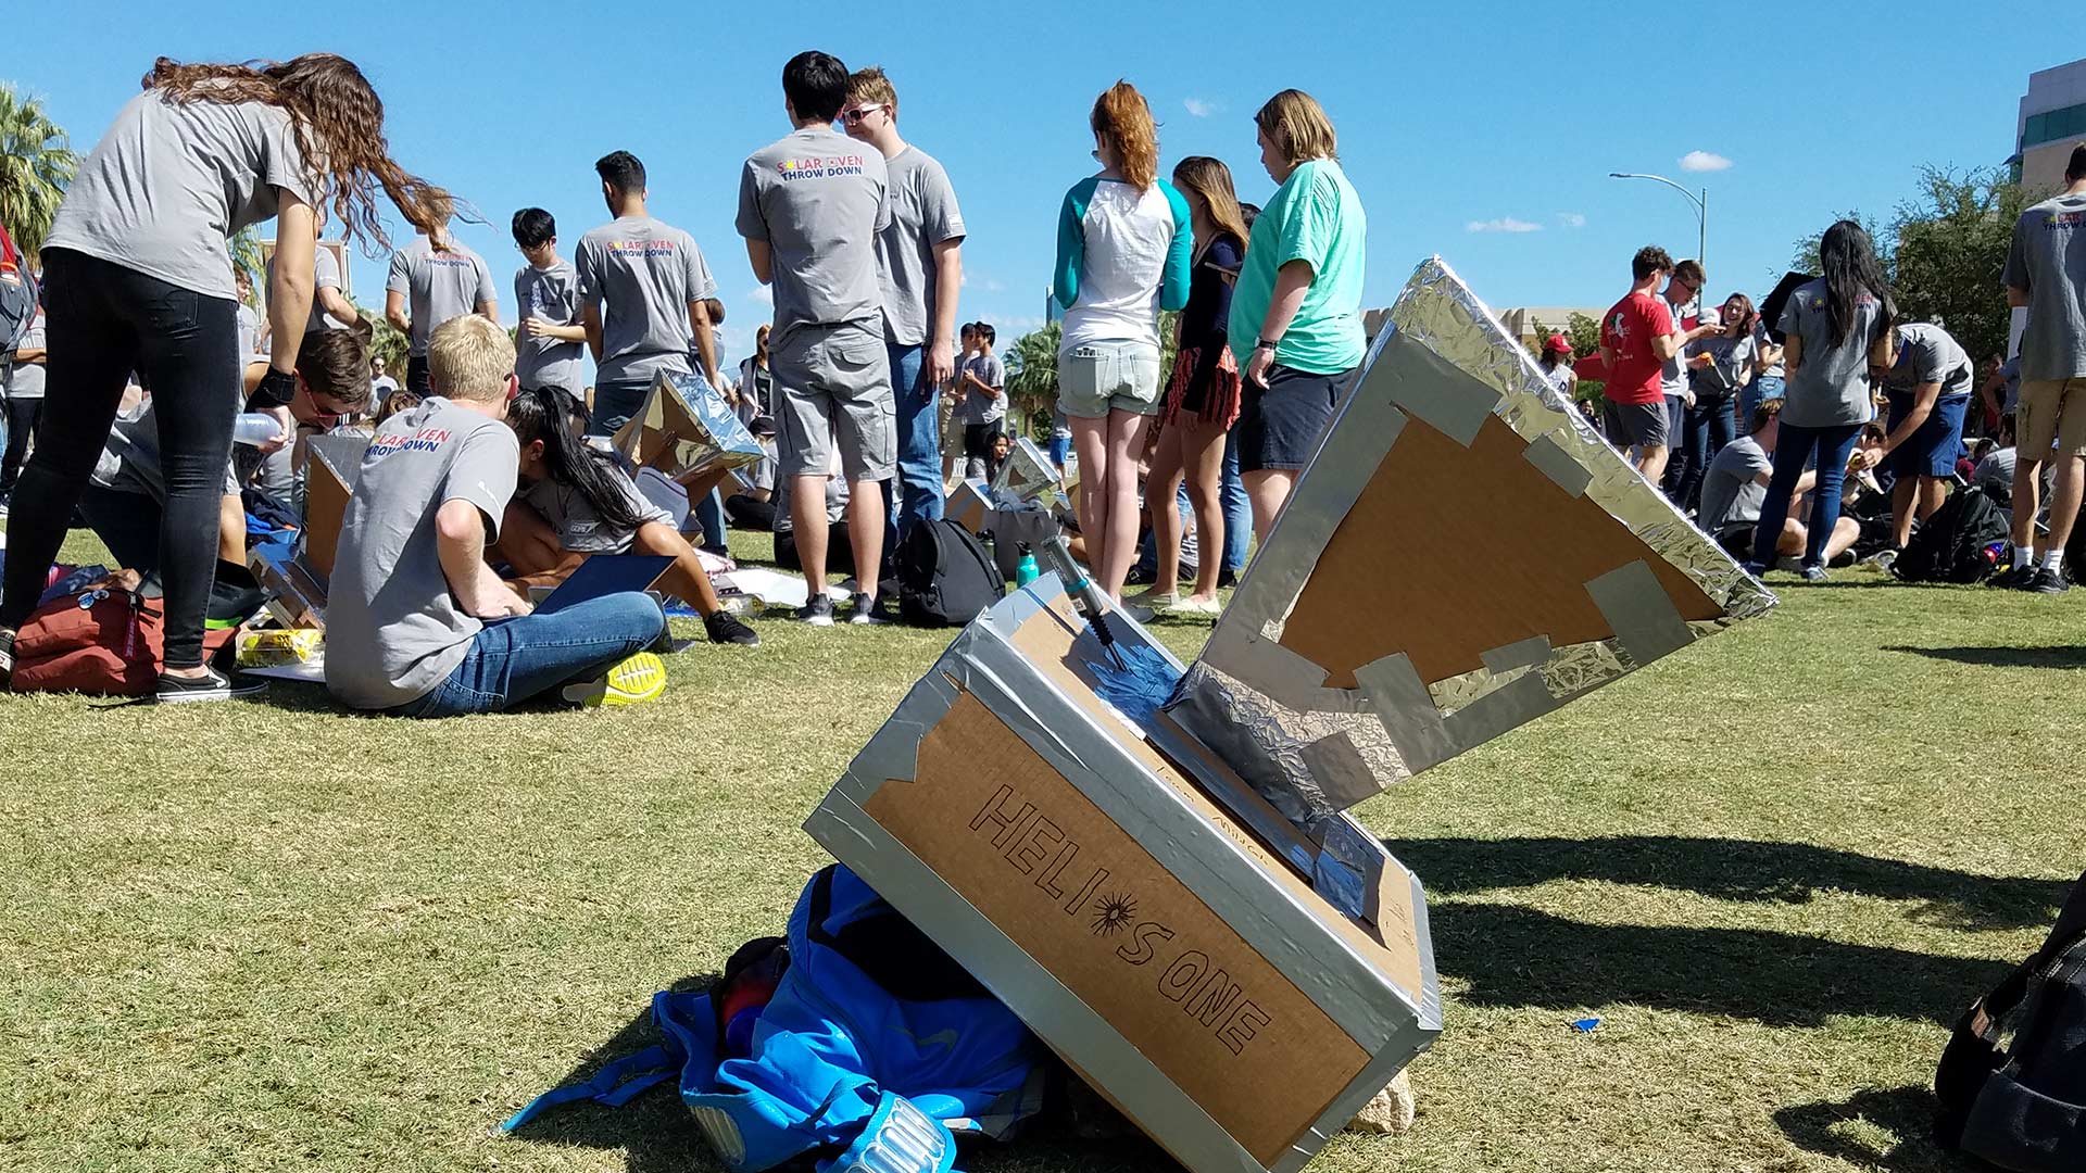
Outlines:
{"label": "standing girl with long dark hair, gray t-shirt and jeans, at right", "polygon": [[[1811,490],[1811,526],[1804,534],[1804,578],[1825,580],[1825,559],[1836,551],[1827,541],[1840,522],[1840,484],[1852,459],[1875,468],[1873,451],[1854,451],[1861,426],[1875,415],[1875,392],[1869,388],[1869,367],[1890,369],[1892,336],[1898,303],[1875,259],[1875,244],[1852,219],[1825,230],[1819,240],[1823,278],[1796,288],[1781,307],[1784,392],[1781,428],[1775,440],[1775,472],[1761,503],[1761,524],[1752,549],[1773,551],[1781,524],[1790,516],[1790,499],[1806,480],[1804,468],[1817,453],[1817,484]],[[1748,570],[1761,572],[1763,557]]]}

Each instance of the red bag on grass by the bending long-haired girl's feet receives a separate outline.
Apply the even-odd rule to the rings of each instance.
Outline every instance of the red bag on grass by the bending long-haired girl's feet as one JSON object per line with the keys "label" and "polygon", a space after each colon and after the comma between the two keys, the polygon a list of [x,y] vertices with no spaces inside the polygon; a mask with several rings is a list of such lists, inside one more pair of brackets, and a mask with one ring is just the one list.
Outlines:
{"label": "red bag on grass by the bending long-haired girl's feet", "polygon": [[[234,628],[202,632],[211,657]],[[102,582],[60,595],[15,632],[17,693],[90,693],[142,697],[159,685],[167,662],[165,620],[156,599]]]}

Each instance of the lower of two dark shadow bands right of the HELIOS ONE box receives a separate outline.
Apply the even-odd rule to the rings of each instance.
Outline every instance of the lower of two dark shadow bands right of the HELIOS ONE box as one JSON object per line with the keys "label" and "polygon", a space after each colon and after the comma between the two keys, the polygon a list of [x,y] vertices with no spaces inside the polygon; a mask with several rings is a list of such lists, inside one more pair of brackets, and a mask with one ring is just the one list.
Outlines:
{"label": "lower of two dark shadow bands right of the HELIOS ONE box", "polygon": [[1610,1004],[1817,1027],[1844,1014],[1955,1023],[2003,962],[1848,945],[1767,929],[1585,925],[1508,904],[1427,910],[1435,964],[1460,1002],[1587,1010]]}

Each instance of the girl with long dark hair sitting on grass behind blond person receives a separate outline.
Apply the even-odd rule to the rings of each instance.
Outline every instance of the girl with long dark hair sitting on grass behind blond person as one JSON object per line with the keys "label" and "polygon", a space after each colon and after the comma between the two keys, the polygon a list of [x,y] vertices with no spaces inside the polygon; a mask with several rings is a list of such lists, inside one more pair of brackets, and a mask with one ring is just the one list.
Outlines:
{"label": "girl with long dark hair sitting on grass behind blond person", "polygon": [[703,616],[709,643],[761,641],[718,601],[674,518],[647,501],[609,455],[580,440],[586,417],[572,392],[524,390],[507,405],[507,426],[522,445],[522,493],[507,505],[499,553],[515,570],[509,584],[517,593],[555,586],[597,553],[668,555],[674,566],[659,586]]}

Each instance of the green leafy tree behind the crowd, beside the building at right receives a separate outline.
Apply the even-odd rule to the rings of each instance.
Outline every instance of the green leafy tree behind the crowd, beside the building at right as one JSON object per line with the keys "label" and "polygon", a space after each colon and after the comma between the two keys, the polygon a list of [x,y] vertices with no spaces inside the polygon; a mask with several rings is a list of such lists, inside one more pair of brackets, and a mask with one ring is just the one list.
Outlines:
{"label": "green leafy tree behind the crowd, beside the building at right", "polygon": [[[2030,202],[2005,169],[1921,167],[1913,198],[1888,223],[1846,213],[1875,238],[1884,276],[1907,321],[1936,321],[1975,359],[2007,349],[2007,292],[2000,273],[2013,221]],[[1819,271],[1819,236],[1796,242],[1792,265]],[[1775,273],[1779,278],[1779,273]]]}

